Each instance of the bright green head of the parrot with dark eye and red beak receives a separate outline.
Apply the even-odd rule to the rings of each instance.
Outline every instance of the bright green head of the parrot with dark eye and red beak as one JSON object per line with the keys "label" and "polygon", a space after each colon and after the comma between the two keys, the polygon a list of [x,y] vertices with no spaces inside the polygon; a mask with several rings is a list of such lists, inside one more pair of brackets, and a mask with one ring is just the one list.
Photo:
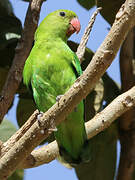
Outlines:
{"label": "bright green head of the parrot with dark eye and red beak", "polygon": [[38,36],[60,37],[67,40],[74,32],[80,31],[81,25],[77,15],[70,10],[56,10],[50,13],[39,25],[36,38]]}

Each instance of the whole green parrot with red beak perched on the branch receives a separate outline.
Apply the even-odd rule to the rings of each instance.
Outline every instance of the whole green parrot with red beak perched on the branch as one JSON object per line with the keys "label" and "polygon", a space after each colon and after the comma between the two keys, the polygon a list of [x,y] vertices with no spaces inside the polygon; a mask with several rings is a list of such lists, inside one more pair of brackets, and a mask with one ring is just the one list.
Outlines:
{"label": "whole green parrot with red beak perched on the branch", "polygon": [[[37,108],[42,112],[55,104],[57,97],[82,73],[79,59],[67,45],[68,38],[79,31],[80,22],[73,11],[56,10],[41,22],[35,33],[23,79],[32,89]],[[87,160],[83,101],[57,126],[54,134],[66,162],[73,166]]]}

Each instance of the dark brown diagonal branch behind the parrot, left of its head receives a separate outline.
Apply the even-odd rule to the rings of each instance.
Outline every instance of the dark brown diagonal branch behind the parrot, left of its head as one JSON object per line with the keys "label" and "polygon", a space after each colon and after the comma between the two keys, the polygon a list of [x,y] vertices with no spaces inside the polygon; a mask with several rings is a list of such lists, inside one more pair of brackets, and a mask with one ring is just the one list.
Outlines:
{"label": "dark brown diagonal branch behind the parrot, left of its head", "polygon": [[23,67],[25,64],[25,60],[27,59],[32,48],[34,33],[38,25],[42,2],[43,0],[32,0],[29,4],[22,37],[15,49],[16,53],[13,64],[9,70],[7,80],[1,92],[0,122],[2,121],[4,115],[7,113],[8,108],[13,101],[14,94],[16,93],[16,90],[18,89],[19,84],[22,80]]}

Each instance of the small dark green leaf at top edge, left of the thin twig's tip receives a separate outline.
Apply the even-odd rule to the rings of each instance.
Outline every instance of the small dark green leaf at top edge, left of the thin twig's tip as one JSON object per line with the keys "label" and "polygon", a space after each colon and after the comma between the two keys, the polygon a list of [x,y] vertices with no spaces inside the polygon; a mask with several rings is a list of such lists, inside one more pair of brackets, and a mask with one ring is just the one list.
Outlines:
{"label": "small dark green leaf at top edge, left of the thin twig's tip", "polygon": [[95,0],[77,0],[77,1],[81,6],[83,6],[87,10],[95,6]]}

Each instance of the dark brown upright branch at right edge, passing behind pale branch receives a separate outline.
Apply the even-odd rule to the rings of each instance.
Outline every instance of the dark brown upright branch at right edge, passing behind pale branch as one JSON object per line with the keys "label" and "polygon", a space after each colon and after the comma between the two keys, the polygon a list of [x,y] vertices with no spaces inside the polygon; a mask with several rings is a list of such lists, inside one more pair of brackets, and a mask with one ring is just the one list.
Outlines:
{"label": "dark brown upright branch at right edge, passing behind pale branch", "polygon": [[[134,31],[129,32],[120,52],[122,92],[135,85],[133,73]],[[135,108],[123,114],[119,123],[121,155],[118,180],[131,180],[135,167]]]}

